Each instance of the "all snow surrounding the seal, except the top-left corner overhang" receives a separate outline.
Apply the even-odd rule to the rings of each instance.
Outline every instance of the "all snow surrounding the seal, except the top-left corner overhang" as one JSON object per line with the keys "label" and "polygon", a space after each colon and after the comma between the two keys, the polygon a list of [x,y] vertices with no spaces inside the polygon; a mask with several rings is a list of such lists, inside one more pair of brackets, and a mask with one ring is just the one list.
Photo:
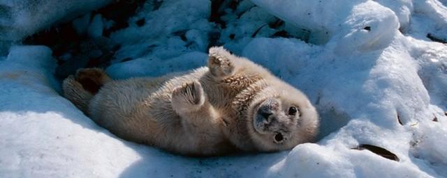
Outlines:
{"label": "all snow surrounding the seal, except the top-left corner overhang", "polygon": [[[446,1],[244,0],[223,9],[226,28],[208,22],[210,8],[206,0],[145,3],[112,33],[122,48],[107,72],[126,79],[193,69],[214,40],[305,92],[321,115],[318,142],[212,158],[137,145],[59,95],[50,49],[16,46],[0,56],[0,177],[447,177],[447,46],[426,37],[446,39]],[[272,37],[278,29],[265,24],[277,17],[285,21],[277,28],[308,43]],[[78,33],[101,36],[107,19],[85,18],[73,21]],[[361,144],[399,161],[353,149]]]}

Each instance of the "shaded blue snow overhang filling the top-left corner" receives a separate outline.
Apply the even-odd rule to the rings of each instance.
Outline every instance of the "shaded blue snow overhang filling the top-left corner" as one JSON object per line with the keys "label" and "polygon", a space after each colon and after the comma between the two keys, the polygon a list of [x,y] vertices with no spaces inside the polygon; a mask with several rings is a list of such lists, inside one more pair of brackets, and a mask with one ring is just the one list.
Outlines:
{"label": "shaded blue snow overhang filling the top-left corner", "polygon": [[110,2],[112,0],[0,0],[0,54],[7,51],[12,42]]}

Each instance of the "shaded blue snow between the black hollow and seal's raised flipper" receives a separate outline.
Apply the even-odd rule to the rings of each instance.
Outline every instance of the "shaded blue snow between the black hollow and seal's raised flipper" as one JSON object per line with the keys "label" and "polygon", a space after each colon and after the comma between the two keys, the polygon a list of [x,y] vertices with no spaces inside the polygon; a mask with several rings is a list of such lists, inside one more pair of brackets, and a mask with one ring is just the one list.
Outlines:
{"label": "shaded blue snow between the black hollow and seal's raised flipper", "polygon": [[[212,29],[207,21],[210,6],[207,0],[163,1],[158,10],[153,10],[152,3],[146,3],[129,20],[129,28],[112,33],[112,40],[123,46],[115,57],[118,61],[143,56],[166,59],[188,51],[205,52],[207,33]],[[139,19],[145,19],[143,26],[135,24]]]}

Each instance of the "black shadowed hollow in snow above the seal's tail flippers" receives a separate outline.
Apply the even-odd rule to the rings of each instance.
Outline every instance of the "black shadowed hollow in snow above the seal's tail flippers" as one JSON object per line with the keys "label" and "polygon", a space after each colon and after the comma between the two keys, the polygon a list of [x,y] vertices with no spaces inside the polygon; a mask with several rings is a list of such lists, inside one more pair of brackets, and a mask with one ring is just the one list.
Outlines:
{"label": "black shadowed hollow in snow above the seal's tail flippers", "polygon": [[[129,17],[135,15],[144,2],[145,0],[114,1],[91,12],[92,17],[101,14],[103,18],[114,22],[110,29],[104,29],[104,36],[90,38],[85,33],[78,34],[72,22],[66,22],[35,33],[27,37],[23,43],[45,45],[52,49],[58,64],[54,75],[58,79],[65,79],[82,67],[106,67],[114,58],[115,51],[119,49],[119,45],[113,44],[107,37],[113,31],[129,26]],[[101,52],[96,53],[98,55],[91,55],[91,51]]]}

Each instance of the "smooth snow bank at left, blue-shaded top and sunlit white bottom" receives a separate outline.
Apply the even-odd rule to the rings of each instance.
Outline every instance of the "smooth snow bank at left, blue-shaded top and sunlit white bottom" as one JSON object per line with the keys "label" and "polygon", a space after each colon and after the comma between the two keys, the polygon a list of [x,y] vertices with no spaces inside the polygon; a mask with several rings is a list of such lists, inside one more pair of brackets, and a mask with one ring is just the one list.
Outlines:
{"label": "smooth snow bank at left, blue-shaded top and sunlit white bottom", "polygon": [[50,49],[14,47],[0,63],[0,177],[111,177],[140,158],[53,89]]}

